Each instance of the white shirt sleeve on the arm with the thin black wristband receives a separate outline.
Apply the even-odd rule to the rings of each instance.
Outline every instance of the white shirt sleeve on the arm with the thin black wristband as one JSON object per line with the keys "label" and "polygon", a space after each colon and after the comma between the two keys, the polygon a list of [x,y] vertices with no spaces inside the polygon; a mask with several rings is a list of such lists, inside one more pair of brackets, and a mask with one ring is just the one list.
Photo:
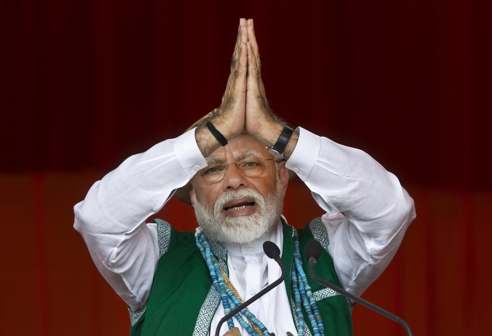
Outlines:
{"label": "white shirt sleeve on the arm with the thin black wristband", "polygon": [[156,226],[146,219],[206,165],[193,129],[129,157],[74,206],[74,228],[132,310],[146,303],[159,259]]}

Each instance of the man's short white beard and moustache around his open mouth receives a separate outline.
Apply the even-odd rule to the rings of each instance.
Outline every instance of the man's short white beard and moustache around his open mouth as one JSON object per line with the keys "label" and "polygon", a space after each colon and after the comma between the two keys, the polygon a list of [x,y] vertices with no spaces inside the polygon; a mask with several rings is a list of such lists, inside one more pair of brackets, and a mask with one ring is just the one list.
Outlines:
{"label": "man's short white beard and moustache around his open mouth", "polygon": [[[203,233],[222,243],[244,244],[269,235],[280,219],[283,208],[282,186],[276,183],[275,191],[265,198],[251,189],[240,188],[219,196],[214,208],[201,204],[195,193],[195,216]],[[257,205],[251,215],[226,216],[224,205],[241,197],[251,197]]]}

